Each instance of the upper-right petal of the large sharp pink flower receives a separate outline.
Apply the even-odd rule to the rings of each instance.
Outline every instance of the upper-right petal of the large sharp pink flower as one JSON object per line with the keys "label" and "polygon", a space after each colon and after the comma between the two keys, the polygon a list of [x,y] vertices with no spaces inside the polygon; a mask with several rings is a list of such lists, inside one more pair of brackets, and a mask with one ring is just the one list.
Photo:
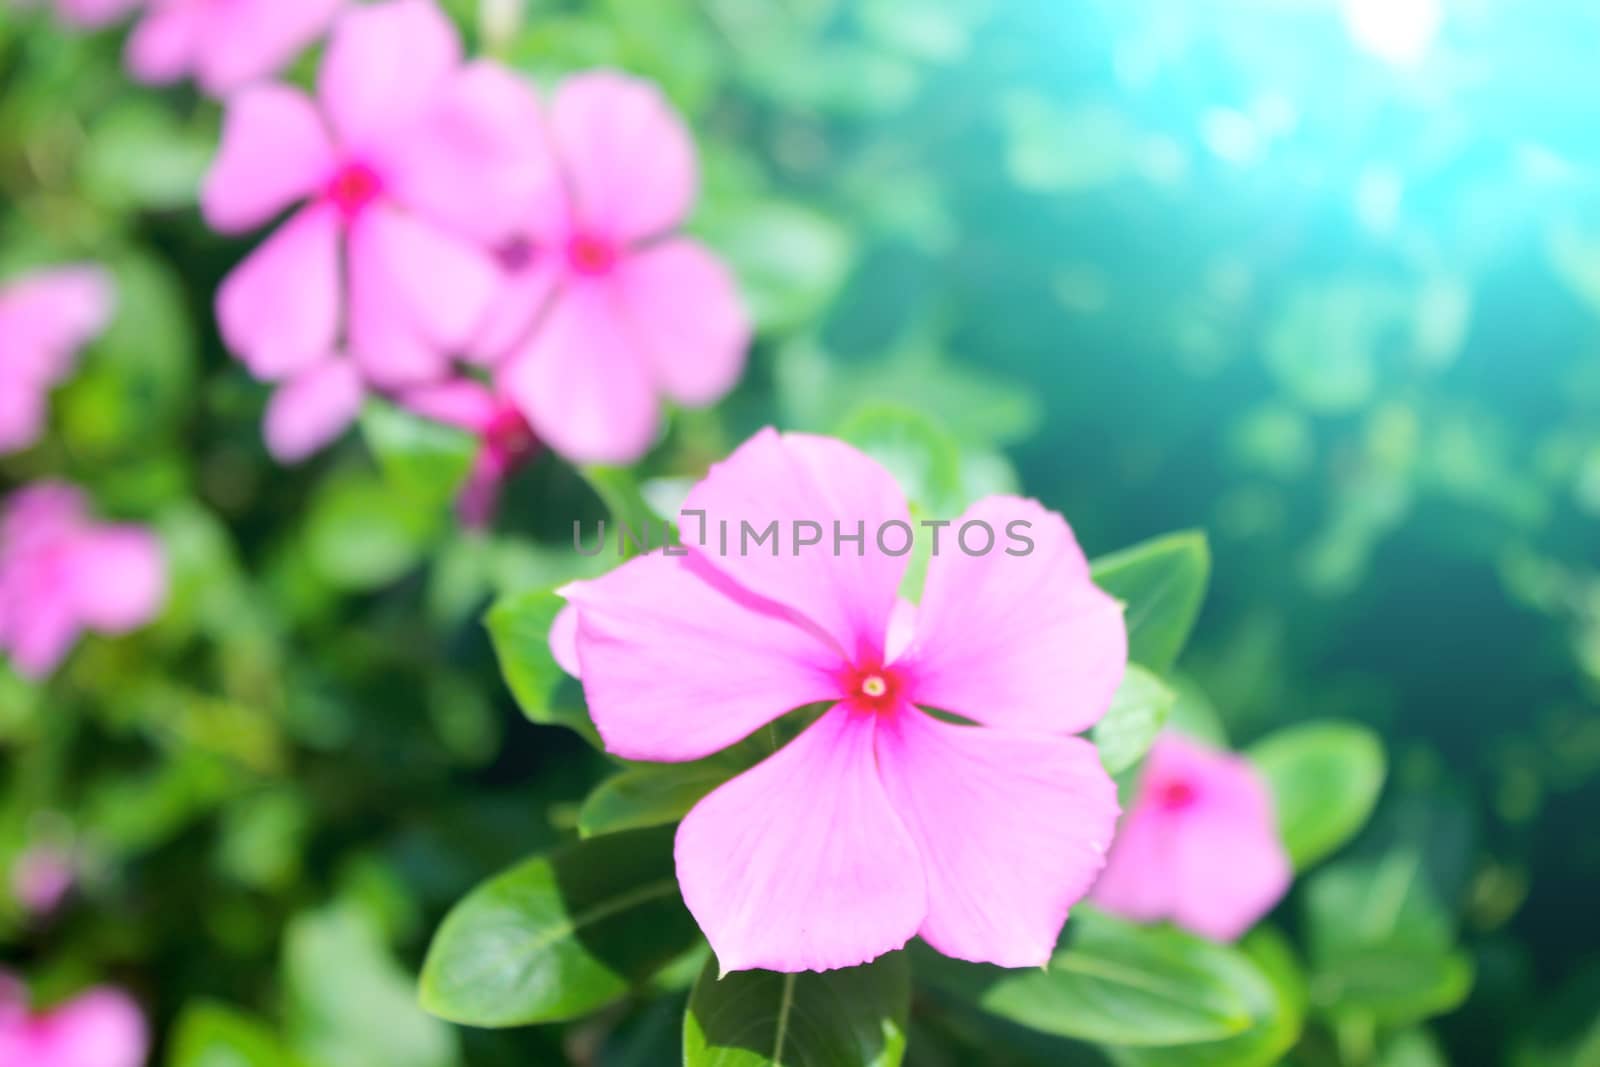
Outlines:
{"label": "upper-right petal of the large sharp pink flower", "polygon": [[[994,531],[987,553],[962,549],[966,523]],[[965,544],[979,550],[987,541],[974,525]],[[990,726],[1077,733],[1110,707],[1128,633],[1066,520],[1035,501],[990,496],[942,531],[906,661],[917,704]]]}

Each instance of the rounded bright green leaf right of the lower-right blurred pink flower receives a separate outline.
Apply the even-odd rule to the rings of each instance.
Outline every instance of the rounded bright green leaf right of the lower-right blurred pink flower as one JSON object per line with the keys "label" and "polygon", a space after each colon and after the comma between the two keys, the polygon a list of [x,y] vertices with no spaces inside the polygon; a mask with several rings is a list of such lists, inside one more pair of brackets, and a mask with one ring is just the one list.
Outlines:
{"label": "rounded bright green leaf right of the lower-right blurred pink flower", "polygon": [[1355,723],[1278,729],[1246,755],[1272,787],[1278,830],[1296,870],[1355,837],[1384,785],[1382,742]]}

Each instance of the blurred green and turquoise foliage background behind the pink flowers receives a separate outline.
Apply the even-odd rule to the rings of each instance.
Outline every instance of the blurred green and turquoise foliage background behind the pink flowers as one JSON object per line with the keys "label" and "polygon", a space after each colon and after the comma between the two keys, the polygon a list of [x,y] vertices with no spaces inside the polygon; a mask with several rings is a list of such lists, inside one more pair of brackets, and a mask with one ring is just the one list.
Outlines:
{"label": "blurred green and turquoise foliage background behind the pink flowers", "polygon": [[[541,82],[618,66],[691,118],[691,229],[760,341],[648,475],[774,421],[899,427],[946,450],[930,498],[1019,485],[1091,553],[1203,528],[1187,673],[1235,742],[1382,733],[1350,862],[1405,841],[1427,910],[1403,926],[1475,971],[1464,1003],[1322,1019],[1294,1062],[1600,1062],[1600,11],[1445,0],[1427,34],[1422,0],[446,6]],[[0,905],[0,958],[120,976],[163,1027],[227,1001],[259,1019],[190,1008],[184,1033],[286,1030],[336,1067],[654,1062],[624,1046],[670,1013],[408,1014],[440,910],[570,827],[595,774],[515,713],[478,616],[568,574],[598,501],[544,459],[462,534],[414,450],[373,461],[410,432],[382,411],[275,467],[210,315],[248,246],[194,210],[218,107],[130,86],[118,48],[0,8],[0,267],[94,258],[122,286],[51,438],[0,477],[154,517],[176,592],[46,689],[0,673],[0,861],[86,857],[48,928]],[[1314,925],[1298,901],[1283,921]]]}

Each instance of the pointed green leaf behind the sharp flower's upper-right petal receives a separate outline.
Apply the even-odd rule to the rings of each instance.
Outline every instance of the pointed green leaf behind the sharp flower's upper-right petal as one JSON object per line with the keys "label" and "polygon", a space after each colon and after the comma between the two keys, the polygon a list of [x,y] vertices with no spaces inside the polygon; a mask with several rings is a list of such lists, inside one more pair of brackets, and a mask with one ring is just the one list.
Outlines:
{"label": "pointed green leaf behind the sharp flower's upper-right petal", "polygon": [[1128,657],[1165,673],[1200,616],[1211,550],[1198,531],[1146,541],[1094,561],[1094,582],[1126,605]]}

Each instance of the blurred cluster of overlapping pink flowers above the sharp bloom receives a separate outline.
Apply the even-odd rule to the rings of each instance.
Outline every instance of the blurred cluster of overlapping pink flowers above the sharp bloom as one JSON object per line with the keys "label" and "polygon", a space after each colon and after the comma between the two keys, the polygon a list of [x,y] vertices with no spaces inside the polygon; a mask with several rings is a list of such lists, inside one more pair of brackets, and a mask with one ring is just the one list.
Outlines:
{"label": "blurred cluster of overlapping pink flowers above the sharp bloom", "polygon": [[315,96],[229,99],[202,194],[227,234],[293,208],[218,293],[229,349],[275,386],[269,448],[302,459],[382,394],[483,440],[478,507],[533,440],[637,459],[662,398],[710,403],[744,365],[731,277],[675,235],[696,186],[648,83],[586,74],[546,106],[464,59],[430,0],[344,11]]}

